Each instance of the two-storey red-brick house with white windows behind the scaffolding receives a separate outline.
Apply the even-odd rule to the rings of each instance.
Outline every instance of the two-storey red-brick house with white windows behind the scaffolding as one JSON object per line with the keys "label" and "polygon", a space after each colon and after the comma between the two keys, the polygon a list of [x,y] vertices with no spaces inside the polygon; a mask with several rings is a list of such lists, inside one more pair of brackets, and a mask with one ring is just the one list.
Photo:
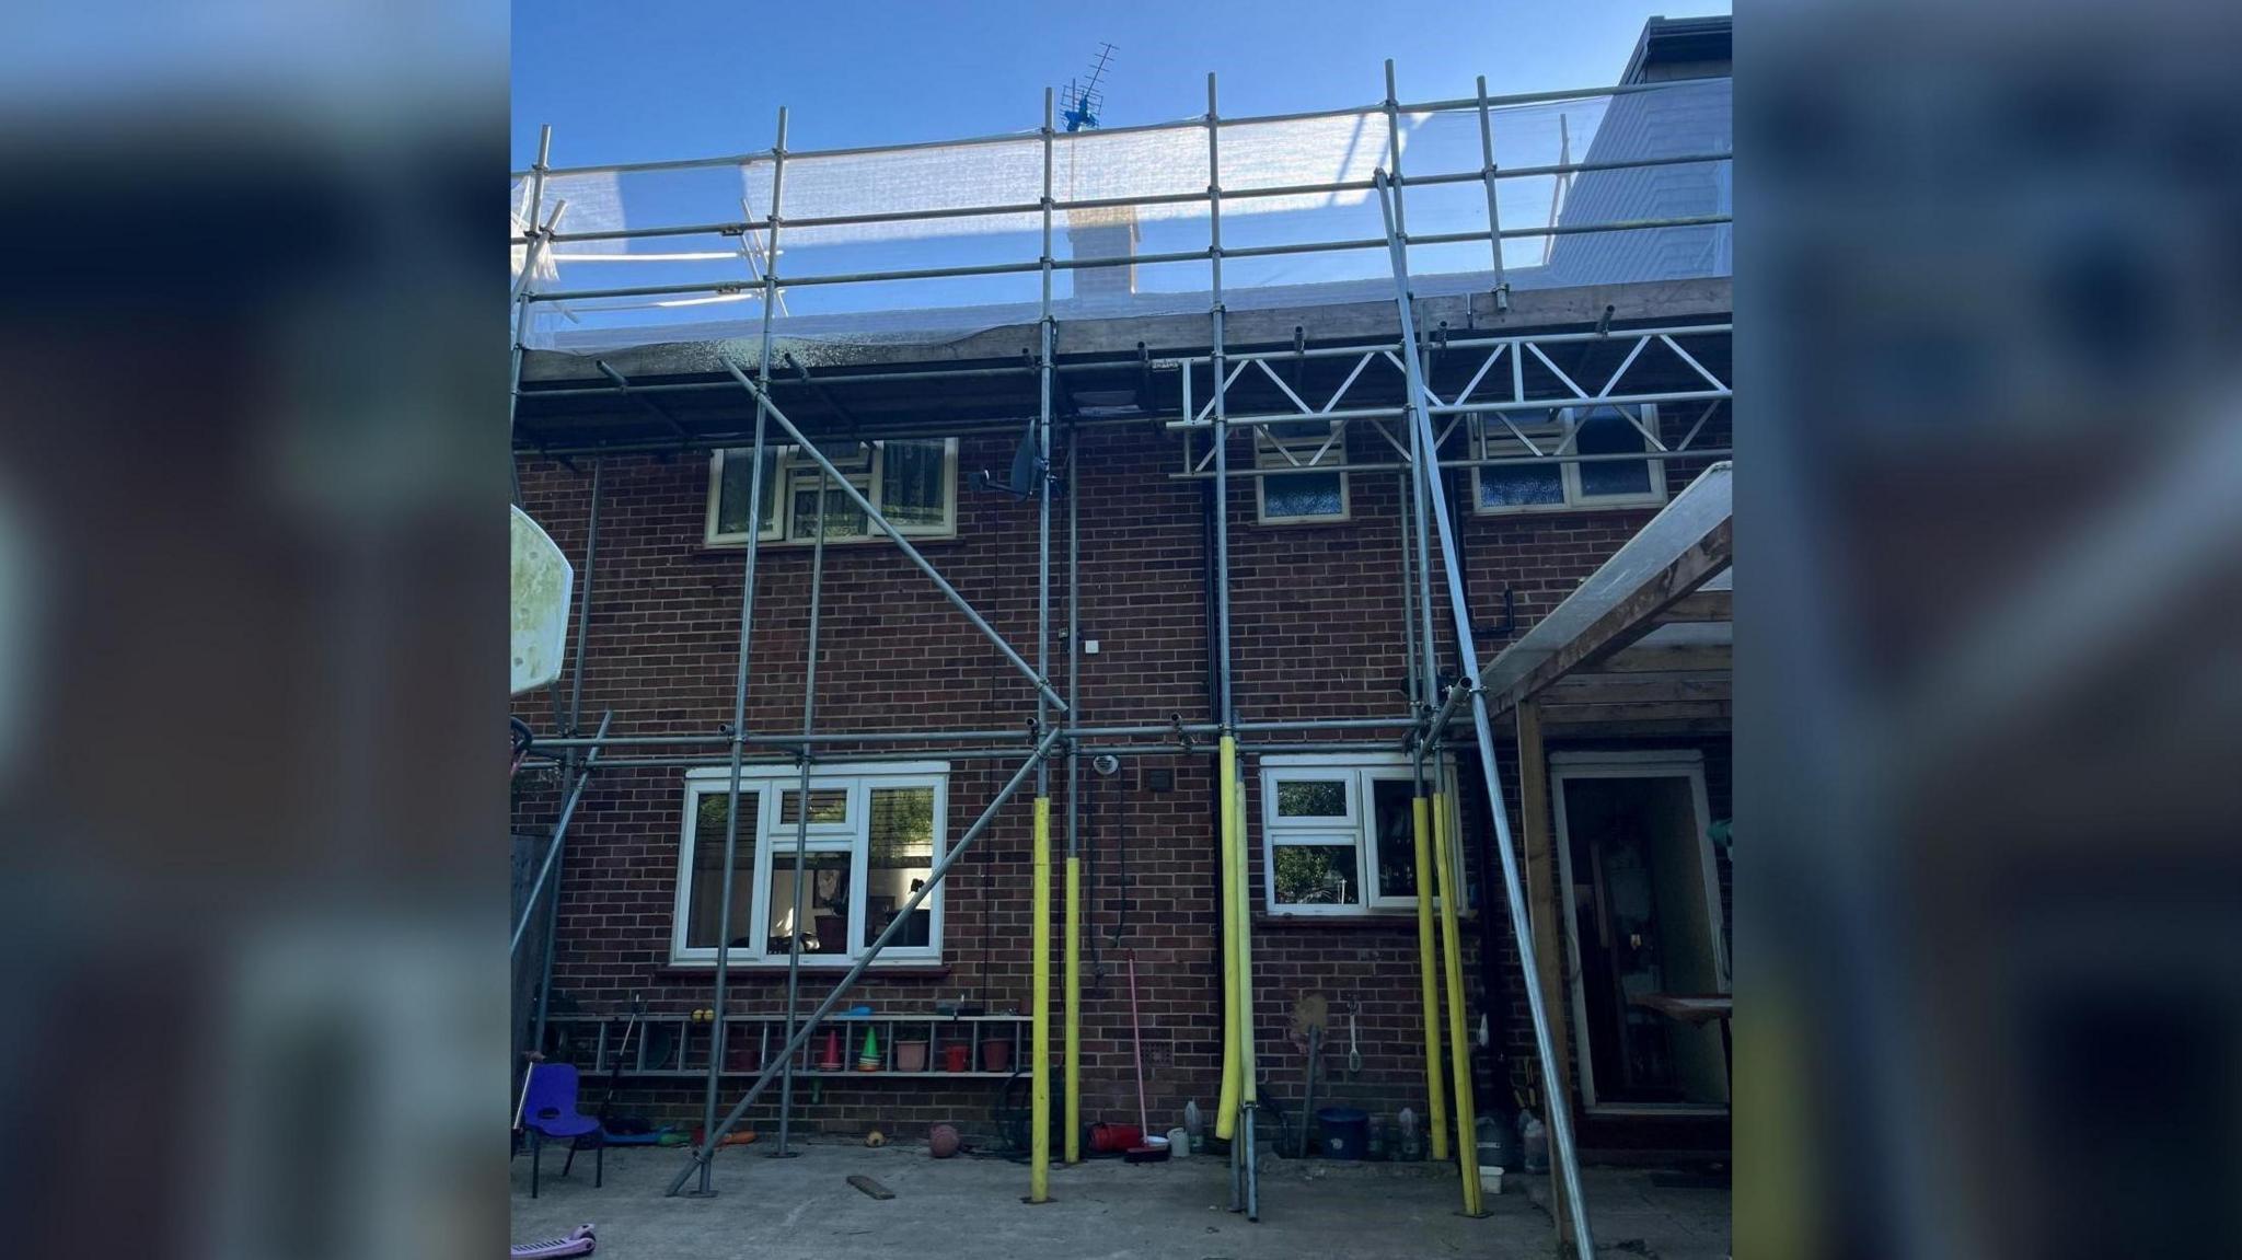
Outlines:
{"label": "two-storey red-brick house with white windows behind the scaffolding", "polygon": [[[1659,76],[1661,63],[1646,49],[1630,81]],[[1632,110],[1625,135],[1637,137],[1630,143],[1657,135],[1637,108],[1643,99],[1623,99]],[[1699,114],[1690,117],[1702,132]],[[1724,128],[1715,130],[1724,146]],[[1592,148],[1587,159],[1612,157],[1599,159]],[[1603,173],[1628,175],[1637,173]],[[1623,188],[1599,191],[1596,177],[1576,177],[1572,204],[1612,200],[1605,193],[1641,202]],[[1569,222],[1563,213],[1558,220]],[[1699,274],[1704,251],[1677,249],[1673,235],[1713,231],[1726,238],[1726,226],[1632,233],[1659,240],[1641,258],[1664,260],[1652,267],[1666,274],[1628,274],[1628,260],[1605,251],[1594,260],[1596,276],[1581,280],[1581,262],[1558,251],[1549,265],[1563,282],[1534,287],[1531,269],[1513,267],[1507,285],[1475,276],[1412,289],[1426,388],[1439,399],[1471,395],[1480,377],[1502,381],[1513,361],[1522,361],[1522,399],[1560,399],[1567,379],[1583,388],[1625,379],[1619,395],[1675,399],[1637,410],[1545,406],[1444,417],[1453,424],[1439,446],[1442,489],[1482,659],[1540,623],[1726,455],[1726,401],[1699,401],[1704,381],[1690,368],[1713,379],[1729,374],[1729,282],[1724,274]],[[1150,235],[1146,229],[1143,249],[1157,249]],[[1722,269],[1724,258],[1722,247]],[[1296,406],[1303,399],[1334,399],[1341,413],[1399,408],[1399,361],[1377,352],[1399,336],[1390,291],[1390,282],[1386,296],[1336,282],[1231,309],[1224,352],[1262,354],[1264,370],[1231,381],[1229,415],[1314,413]],[[1085,883],[1081,1114],[1134,1123],[1130,957],[1155,1128],[1182,1123],[1186,1101],[1208,1112],[1215,1105],[1222,971],[1211,726],[1220,724],[1224,666],[1244,744],[1253,1029],[1264,1096],[1280,1105],[1300,1096],[1307,1065],[1291,1016],[1314,993],[1332,1011],[1318,1105],[1356,1105],[1381,1121],[1401,1108],[1424,1114],[1417,872],[1397,843],[1408,836],[1403,749],[1424,717],[1412,702],[1421,688],[1412,682],[1419,666],[1410,641],[1417,592],[1406,576],[1406,437],[1379,417],[1231,426],[1226,460],[1242,475],[1229,482],[1220,522],[1231,617],[1222,661],[1213,648],[1215,491],[1197,466],[1208,437],[1182,428],[1217,379],[1208,316],[1112,312],[1121,298],[1085,294],[1081,300],[1108,305],[1083,307],[1076,318],[1060,303],[1051,325],[1049,677],[1074,697],[1067,722],[1101,731],[1063,744],[1072,767],[1067,756],[1049,762],[1054,832],[1060,843],[1072,836]],[[1204,307],[1206,294],[1197,300]],[[946,341],[845,343],[807,323],[843,316],[803,318],[805,336],[773,343],[771,401],[995,634],[1034,661],[1043,500],[1013,493],[1007,471],[1038,419],[1043,325],[1000,312]],[[623,1105],[677,1123],[697,1123],[704,1103],[706,1029],[691,1013],[711,1004],[715,971],[731,787],[724,726],[742,650],[749,534],[758,558],[744,731],[758,742],[747,747],[740,789],[726,1013],[771,1018],[787,1009],[789,946],[800,948],[807,1011],[1022,765],[1038,708],[1029,679],[785,442],[773,442],[765,511],[751,529],[747,435],[756,401],[724,363],[753,372],[756,348],[742,350],[717,332],[735,334],[632,332],[605,348],[567,339],[531,348],[520,368],[516,428],[520,504],[576,560],[587,603],[585,634],[569,646],[581,677],[516,700],[516,715],[549,753],[516,778],[525,865],[552,836],[581,765],[569,731],[590,735],[612,713],[612,735],[643,740],[605,747],[585,780],[558,863],[552,998],[536,1011],[534,989],[518,986],[531,995],[518,1022],[543,1022],[549,1054],[599,1067],[612,1058],[621,1016],[643,1000],[657,1018],[628,1056]],[[1657,341],[1657,332],[1673,332],[1673,341]],[[1666,345],[1677,350],[1668,354]],[[1489,348],[1507,354],[1500,372],[1486,372]],[[1529,460],[1542,448],[1596,460]],[[1078,590],[1072,608],[1069,590]],[[1437,565],[1433,590],[1446,599]],[[803,767],[787,740],[805,731],[812,603],[816,742],[803,800]],[[1435,610],[1433,670],[1453,679],[1453,623],[1446,603]],[[1069,621],[1078,623],[1074,639]],[[1643,666],[1634,677],[1652,673]],[[1574,1067],[1585,1067],[1572,1072],[1569,1105],[1590,1150],[1726,1141],[1726,1081],[1706,1078],[1704,1047],[1625,1004],[1625,993],[1657,966],[1711,966],[1722,975],[1706,973],[1704,982],[1724,989],[1729,863],[1706,834],[1708,821],[1729,816],[1731,787],[1726,673],[1717,673],[1717,682],[1697,679],[1686,697],[1666,691],[1655,702],[1612,682],[1628,675],[1549,693],[1549,782],[1538,794],[1545,812],[1531,825],[1520,814],[1516,738],[1507,722],[1498,724],[1500,798],[1511,830],[1558,836],[1569,897],[1547,904],[1574,906],[1572,926],[1585,933],[1563,946],[1569,993],[1560,1016],[1567,1043],[1578,1047]],[[581,686],[581,702],[572,686]],[[1312,722],[1336,726],[1256,729]],[[1484,1020],[1489,1034],[1471,1056],[1475,1094],[1482,1114],[1504,1117],[1513,1092],[1538,1090],[1538,1076],[1469,722],[1451,726],[1444,762],[1469,888],[1457,942],[1469,1022],[1477,1029]],[[984,1036],[1018,1038],[1013,1063],[1027,1049],[1025,1029],[998,1016],[1025,1011],[1031,1000],[1029,796],[993,814],[850,993],[847,1004],[870,1007],[874,1022],[830,1025],[834,1038],[847,1034],[839,1072],[818,1072],[827,1034],[812,1040],[805,1076],[794,1083],[794,1125],[915,1132],[957,1121],[991,1132],[1022,1123],[1013,1112],[1025,1114],[1027,1096],[1009,1072],[982,1072],[989,1063],[975,1051],[971,1072],[951,1074],[939,1049],[946,1038]],[[1643,818],[1668,818],[1670,834],[1630,839],[1628,827]],[[796,843],[807,852],[800,908]],[[1699,892],[1711,904],[1693,908],[1686,924],[1668,924],[1673,881],[1699,879],[1684,870],[1699,859],[1711,874]],[[1643,897],[1664,910],[1630,917],[1625,906]],[[1614,948],[1614,930],[1632,944]],[[538,951],[531,942],[531,957]],[[1690,962],[1679,960],[1684,953]],[[543,962],[536,957],[531,969]],[[919,1038],[910,1020],[939,1022],[937,1004],[948,1002],[986,1011],[989,1025],[944,1025]],[[897,1047],[883,1045],[881,1072],[852,1072],[865,1027],[890,1043],[933,1040],[926,1063],[910,1072]],[[735,1025],[720,1108],[776,1045],[765,1025]],[[1347,1067],[1350,1049],[1359,1051],[1359,1069]],[[749,1123],[769,1130],[776,1110],[771,1090],[749,1110]]]}

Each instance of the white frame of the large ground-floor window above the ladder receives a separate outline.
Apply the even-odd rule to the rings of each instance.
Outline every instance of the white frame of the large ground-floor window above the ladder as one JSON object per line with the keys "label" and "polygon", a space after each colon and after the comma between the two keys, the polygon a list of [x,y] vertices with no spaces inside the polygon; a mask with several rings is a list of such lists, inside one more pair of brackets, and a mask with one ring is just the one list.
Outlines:
{"label": "white frame of the large ground-floor window above the ladder", "polygon": [[[809,823],[809,834],[803,852],[814,854],[850,854],[850,906],[847,906],[847,939],[850,948],[841,953],[803,953],[800,962],[807,969],[845,969],[854,966],[865,951],[865,915],[870,912],[870,870],[872,870],[872,791],[879,789],[919,789],[928,787],[935,794],[933,805],[933,856],[928,865],[939,865],[942,854],[948,852],[948,762],[877,762],[863,767],[850,767],[850,773],[812,773],[809,791],[847,791],[847,821],[845,823]],[[733,881],[740,879],[749,883],[749,906],[747,921],[749,930],[733,930],[733,939],[747,935],[753,944],[731,946],[733,966],[758,966],[758,964],[782,964],[787,962],[787,951],[769,948],[769,917],[771,917],[771,872],[778,865],[778,850],[785,845],[785,854],[791,863],[796,825],[782,823],[782,794],[800,789],[800,769],[796,767],[742,767],[740,789],[756,791],[756,832],[753,832],[753,856],[733,872]],[[684,821],[677,832],[677,892],[675,908],[670,915],[670,966],[715,966],[720,946],[691,946],[686,944],[686,930],[693,915],[693,847],[695,830],[700,827],[700,803],[704,796],[722,796],[731,791],[731,769],[729,767],[695,767],[686,771],[684,780]],[[742,823],[747,818],[742,816]],[[944,895],[937,883],[926,897],[924,910],[928,912],[924,946],[897,946],[890,944],[879,953],[872,964],[881,966],[939,966],[942,964],[942,919],[944,919]]]}

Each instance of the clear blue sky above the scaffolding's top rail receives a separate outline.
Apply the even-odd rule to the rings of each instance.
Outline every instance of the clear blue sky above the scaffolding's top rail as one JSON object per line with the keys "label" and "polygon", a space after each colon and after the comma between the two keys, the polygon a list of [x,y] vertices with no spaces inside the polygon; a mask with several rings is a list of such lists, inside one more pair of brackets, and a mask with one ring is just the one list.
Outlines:
{"label": "clear blue sky above the scaffolding's top rail", "polygon": [[1401,96],[1612,83],[1643,20],[1726,13],[1693,0],[1538,4],[1365,0],[1020,0],[715,4],[708,0],[518,0],[513,166],[540,123],[563,166],[769,148],[778,105],[789,148],[904,143],[1027,130],[1043,90],[1119,45],[1105,123],[1202,114],[1206,72],[1224,114],[1370,103],[1395,58]]}

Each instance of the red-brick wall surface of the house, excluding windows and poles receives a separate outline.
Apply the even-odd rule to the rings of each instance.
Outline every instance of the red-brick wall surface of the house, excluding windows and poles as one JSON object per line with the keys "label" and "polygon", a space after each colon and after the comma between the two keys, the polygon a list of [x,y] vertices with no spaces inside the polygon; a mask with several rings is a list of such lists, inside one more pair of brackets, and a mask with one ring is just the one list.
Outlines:
{"label": "red-brick wall surface of the house, excluding windows and poles", "polygon": [[[1390,451],[1356,435],[1359,462]],[[1381,455],[1383,453],[1383,455]],[[960,466],[1004,466],[1009,437],[969,437]],[[1202,516],[1197,482],[1177,482],[1175,439],[1148,428],[1083,433],[1081,451],[1081,626],[1101,641],[1083,657],[1081,713],[1087,724],[1166,722],[1179,711],[1208,722]],[[590,469],[567,471],[525,460],[525,507],[578,560],[585,545]],[[1688,471],[1675,469],[1673,489]],[[1457,507],[1469,556],[1473,614],[1502,617],[1502,587],[1516,594],[1518,630],[1554,608],[1585,574],[1648,520],[1648,511],[1534,518],[1469,516],[1469,478]],[[614,457],[603,471],[599,563],[592,576],[592,628],[585,652],[585,729],[612,708],[617,733],[713,733],[729,722],[740,614],[740,549],[702,547],[708,473],[704,457]],[[1063,679],[1065,500],[1054,511],[1054,675]],[[1238,713],[1276,717],[1363,717],[1399,713],[1403,697],[1401,531],[1395,473],[1356,473],[1352,520],[1343,525],[1260,527],[1249,482],[1231,498],[1231,608]],[[921,545],[973,605],[1034,659],[1036,511],[1002,493],[960,487],[960,536]],[[1437,563],[1437,560],[1435,560]],[[578,576],[578,585],[583,576]],[[807,547],[765,547],[758,560],[751,731],[798,731],[807,637]],[[1446,603],[1435,605],[1442,664],[1453,670]],[[1484,639],[1500,650],[1504,639]],[[1063,686],[1063,682],[1060,682]],[[540,731],[554,702],[531,695],[518,713]],[[1011,670],[892,545],[830,547],[821,626],[818,729],[1018,729],[1034,713],[1031,686]],[[1327,740],[1332,735],[1316,735]],[[1262,738],[1271,740],[1271,738]],[[1673,742],[1664,747],[1677,747]],[[711,744],[708,756],[722,747]],[[628,758],[617,749],[610,758]],[[910,758],[915,753],[897,753]],[[1090,930],[1099,973],[1083,978],[1083,1117],[1134,1123],[1128,984],[1123,953],[1134,951],[1141,993],[1146,1090],[1155,1128],[1182,1123],[1184,1099],[1213,1112],[1220,1085],[1220,971],[1211,758],[1204,753],[1132,758],[1110,780],[1085,789],[1083,845],[1090,863]],[[953,762],[948,834],[960,836],[1016,760]],[[1466,776],[1475,762],[1464,756]],[[1504,800],[1516,812],[1516,769],[1502,749]],[[1717,767],[1717,769],[1715,769]],[[1148,771],[1170,769],[1173,787],[1152,791]],[[1258,776],[1251,773],[1258,818]],[[1708,749],[1715,816],[1726,814],[1724,744]],[[1083,769],[1090,780],[1090,769]],[[558,812],[554,776],[518,789],[518,827],[549,827]],[[1051,767],[1054,841],[1065,839],[1065,765]],[[1092,796],[1094,791],[1094,796]],[[655,1011],[708,1002],[708,969],[668,964],[677,877],[679,769],[610,769],[594,778],[569,830],[567,877],[554,964],[556,1011],[619,1011],[646,993]],[[881,1011],[928,1009],[937,995],[982,998],[991,1009],[1027,1000],[1029,989],[1029,791],[1007,807],[946,881],[942,975],[870,978],[852,1000]],[[1466,789],[1466,841],[1486,827]],[[1513,816],[1516,818],[1516,816]],[[1251,830],[1253,899],[1260,904],[1260,834]],[[1121,865],[1125,850],[1128,915]],[[1060,872],[1054,868],[1054,890]],[[1477,897],[1477,890],[1475,890]],[[1500,915],[1500,892],[1493,897]],[[1058,915],[1054,912],[1054,924]],[[989,937],[986,962],[982,942]],[[1477,928],[1464,930],[1466,986],[1477,1020]],[[1518,1078],[1531,1069],[1516,957],[1504,942],[1500,1002]],[[1296,1101],[1305,1056],[1287,1043],[1298,995],[1323,993],[1334,1013],[1330,1072],[1316,1094],[1390,1117],[1424,1110],[1421,1011],[1415,919],[1316,924],[1264,919],[1253,935],[1256,1036],[1269,1090]],[[1085,969],[1090,957],[1085,951]],[[1056,989],[1056,982],[1054,982]],[[807,1002],[825,984],[805,980]],[[733,971],[735,1009],[782,1009],[782,971]],[[807,1007],[805,1002],[805,1007]],[[1347,1013],[1356,1013],[1363,1069],[1347,1078]],[[1054,1013],[1054,1047],[1058,1045]],[[1493,1067],[1480,1065],[1482,1099]],[[854,1130],[865,1123],[921,1125],[960,1119],[986,1128],[993,1083],[928,1087],[926,1081],[847,1081],[807,1103],[798,1123]],[[738,1096],[738,1087],[726,1092]],[[697,1119],[697,1085],[632,1087],[632,1108]],[[776,1090],[771,1094],[776,1099]],[[1321,1105],[1321,1103],[1318,1103]],[[760,1117],[773,1114],[769,1105]],[[765,1119],[762,1123],[769,1123]]]}

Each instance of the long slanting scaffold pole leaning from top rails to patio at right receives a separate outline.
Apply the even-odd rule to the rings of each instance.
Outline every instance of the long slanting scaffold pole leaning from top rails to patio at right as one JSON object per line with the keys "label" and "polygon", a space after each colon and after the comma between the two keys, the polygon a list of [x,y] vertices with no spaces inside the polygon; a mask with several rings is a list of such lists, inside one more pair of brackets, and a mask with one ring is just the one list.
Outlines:
{"label": "long slanting scaffold pole leaning from top rails to patio at right", "polygon": [[[1386,173],[1372,175],[1377,186],[1379,209],[1386,213],[1386,249],[1392,256],[1395,269],[1395,305],[1401,316],[1401,343],[1406,354],[1401,354],[1403,374],[1408,377],[1408,419],[1417,428],[1417,437],[1424,444],[1424,460],[1417,464],[1417,478],[1433,482],[1437,478],[1437,439],[1433,433],[1433,417],[1424,410],[1424,381],[1417,368],[1417,318],[1410,312],[1408,296],[1408,253],[1401,249],[1401,238],[1395,231],[1392,215],[1392,184]],[[1435,487],[1426,487],[1435,491]],[[1433,500],[1433,522],[1439,534],[1442,563],[1448,578],[1448,614],[1455,621],[1455,650],[1464,670],[1464,686],[1471,691],[1471,720],[1480,742],[1480,773],[1486,778],[1486,803],[1491,821],[1495,825],[1495,845],[1502,856],[1502,890],[1509,901],[1511,912],[1511,939],[1518,944],[1518,971],[1527,991],[1527,1011],[1534,1018],[1534,1049],[1542,1065],[1542,1096],[1549,1099],[1549,1148],[1556,1157],[1558,1175],[1563,1177],[1565,1199],[1574,1206],[1572,1213],[1572,1235],[1578,1256],[1587,1258],[1596,1253],[1594,1233],[1587,1226],[1587,1202],[1581,1197],[1581,1164],[1572,1143],[1572,1110],[1563,1094],[1563,1076],[1558,1074],[1556,1049],[1549,1038],[1549,1011],[1542,1004],[1540,993],[1540,971],[1534,957],[1534,926],[1527,917],[1525,883],[1518,872],[1518,847],[1511,841],[1511,821],[1502,805],[1502,778],[1495,773],[1495,733],[1493,720],[1486,708],[1486,693],[1480,691],[1480,652],[1471,641],[1471,608],[1464,601],[1464,572],[1455,556],[1455,525],[1448,520],[1448,504],[1435,491]],[[1464,1087],[1460,1081],[1457,1087]],[[1464,1134],[1464,1141],[1473,1141],[1473,1134]]]}

